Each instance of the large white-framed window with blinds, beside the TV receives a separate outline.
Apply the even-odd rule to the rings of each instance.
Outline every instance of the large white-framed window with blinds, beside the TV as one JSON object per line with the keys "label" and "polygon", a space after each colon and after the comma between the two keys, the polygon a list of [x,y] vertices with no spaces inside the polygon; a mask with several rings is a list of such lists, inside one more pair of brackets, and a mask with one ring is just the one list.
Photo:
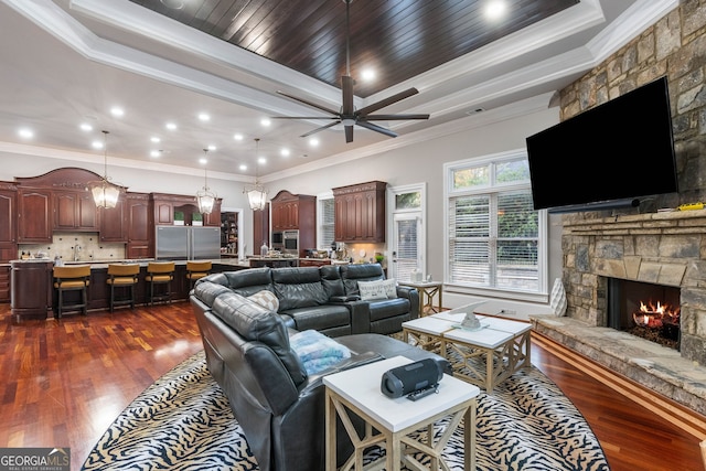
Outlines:
{"label": "large white-framed window with blinds, beside the TV", "polygon": [[534,211],[524,151],[445,165],[446,280],[460,291],[546,296],[545,212]]}

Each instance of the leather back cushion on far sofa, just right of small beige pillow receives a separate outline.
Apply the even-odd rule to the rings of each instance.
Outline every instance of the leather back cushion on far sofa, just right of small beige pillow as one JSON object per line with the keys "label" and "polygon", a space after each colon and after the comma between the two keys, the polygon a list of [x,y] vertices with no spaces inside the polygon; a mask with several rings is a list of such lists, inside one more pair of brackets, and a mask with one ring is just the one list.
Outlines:
{"label": "leather back cushion on far sofa, just right of small beige pillow", "polygon": [[329,300],[318,267],[277,268],[271,275],[279,312],[325,304]]}

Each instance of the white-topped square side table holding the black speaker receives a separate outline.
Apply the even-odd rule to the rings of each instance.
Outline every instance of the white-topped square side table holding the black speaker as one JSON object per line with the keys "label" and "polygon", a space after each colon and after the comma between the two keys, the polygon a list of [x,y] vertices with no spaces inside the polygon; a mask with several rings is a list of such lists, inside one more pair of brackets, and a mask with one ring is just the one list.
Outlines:
{"label": "white-topped square side table holding the black speaker", "polygon": [[[439,464],[443,463],[441,452],[461,420],[464,422],[464,470],[475,469],[475,398],[480,389],[445,374],[439,382],[438,393],[419,400],[385,396],[381,392],[383,374],[411,362],[404,356],[395,356],[323,377],[327,387],[327,471],[336,469],[336,415],[355,448],[342,470],[363,470],[363,451],[373,445],[383,446],[386,456],[379,463],[366,469],[399,471],[403,462],[419,469],[421,464],[414,458],[418,451],[431,458],[430,469],[439,469]],[[365,420],[363,437],[353,427],[351,413]],[[450,422],[435,442],[434,424],[447,416],[451,416]],[[420,433],[421,439],[409,437],[425,427],[427,431]],[[446,463],[443,465],[448,469]]]}

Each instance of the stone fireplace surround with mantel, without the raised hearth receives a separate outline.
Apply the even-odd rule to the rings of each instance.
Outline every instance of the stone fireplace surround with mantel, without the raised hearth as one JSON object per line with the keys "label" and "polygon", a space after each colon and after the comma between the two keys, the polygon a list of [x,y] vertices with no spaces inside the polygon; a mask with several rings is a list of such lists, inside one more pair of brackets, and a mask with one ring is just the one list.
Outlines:
{"label": "stone fireplace surround with mantel, without the raised hearth", "polygon": [[[592,327],[608,319],[611,280],[673,288],[678,303],[681,356],[706,365],[706,210],[605,217],[563,216],[567,315]],[[676,292],[676,295],[674,295]],[[611,324],[612,323],[612,324]]]}

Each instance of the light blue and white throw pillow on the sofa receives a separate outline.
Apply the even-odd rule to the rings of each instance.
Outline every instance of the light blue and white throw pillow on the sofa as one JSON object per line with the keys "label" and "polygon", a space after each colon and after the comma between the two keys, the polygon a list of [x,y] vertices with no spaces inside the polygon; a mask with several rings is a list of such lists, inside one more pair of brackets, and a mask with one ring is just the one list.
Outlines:
{"label": "light blue and white throw pillow on the sofa", "polygon": [[351,357],[351,351],[345,345],[315,330],[297,332],[289,338],[289,344],[301,360],[308,375],[320,373]]}

